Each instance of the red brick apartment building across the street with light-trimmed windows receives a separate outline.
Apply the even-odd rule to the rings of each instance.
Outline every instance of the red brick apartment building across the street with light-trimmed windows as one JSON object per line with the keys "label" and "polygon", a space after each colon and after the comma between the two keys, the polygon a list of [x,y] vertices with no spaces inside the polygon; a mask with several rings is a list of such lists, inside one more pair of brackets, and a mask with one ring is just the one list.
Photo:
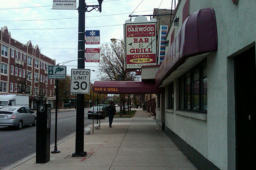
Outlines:
{"label": "red brick apartment building across the street with light-trimmed windows", "polygon": [[29,108],[36,108],[36,100],[42,94],[53,107],[54,80],[48,79],[48,65],[55,65],[55,59],[41,54],[31,41],[22,44],[13,39],[7,26],[1,28],[0,36],[0,94],[24,93],[21,82],[25,82]]}

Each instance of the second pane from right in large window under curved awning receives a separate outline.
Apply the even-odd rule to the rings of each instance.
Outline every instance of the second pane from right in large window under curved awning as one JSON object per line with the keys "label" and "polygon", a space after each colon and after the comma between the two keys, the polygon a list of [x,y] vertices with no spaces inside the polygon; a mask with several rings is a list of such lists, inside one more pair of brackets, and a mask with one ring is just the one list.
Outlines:
{"label": "second pane from right in large window under curved awning", "polygon": [[199,111],[199,69],[193,74],[193,110]]}

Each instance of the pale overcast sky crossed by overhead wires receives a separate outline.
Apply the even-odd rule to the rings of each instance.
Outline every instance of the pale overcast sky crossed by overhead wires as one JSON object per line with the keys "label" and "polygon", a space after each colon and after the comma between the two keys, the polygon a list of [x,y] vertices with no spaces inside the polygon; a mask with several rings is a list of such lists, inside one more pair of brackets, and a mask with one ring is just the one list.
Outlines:
{"label": "pale overcast sky crossed by overhead wires", "polygon": [[[32,45],[38,45],[41,49],[41,53],[52,59],[56,59],[56,63],[77,59],[78,11],[53,10],[51,9],[52,1],[53,0],[7,0],[1,3],[0,6],[0,27],[7,26],[9,32],[11,32],[12,38],[24,44],[31,40]],[[86,3],[87,5],[98,5],[97,0],[86,0]],[[85,30],[100,30],[101,44],[110,43],[111,38],[121,40],[123,38],[122,24],[125,23],[125,20],[129,19],[129,14],[131,14],[137,6],[133,14],[143,15],[153,14],[154,8],[159,8],[159,6],[162,9],[171,9],[171,5],[171,0],[104,0],[101,13],[95,10],[86,12],[85,27],[90,28],[85,28]],[[97,45],[86,45],[86,48],[96,47]],[[77,68],[77,61],[69,62],[66,65],[67,74],[70,75],[70,69]],[[85,66],[85,68],[96,70],[91,73],[91,80],[96,79],[96,63],[86,62]]]}

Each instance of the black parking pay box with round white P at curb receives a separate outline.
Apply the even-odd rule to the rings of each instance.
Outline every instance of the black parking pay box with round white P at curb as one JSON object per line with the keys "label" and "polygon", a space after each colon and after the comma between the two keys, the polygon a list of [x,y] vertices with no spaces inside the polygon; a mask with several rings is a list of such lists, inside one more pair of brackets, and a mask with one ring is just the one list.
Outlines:
{"label": "black parking pay box with round white P at curb", "polygon": [[36,125],[36,161],[50,160],[51,104],[38,105]]}

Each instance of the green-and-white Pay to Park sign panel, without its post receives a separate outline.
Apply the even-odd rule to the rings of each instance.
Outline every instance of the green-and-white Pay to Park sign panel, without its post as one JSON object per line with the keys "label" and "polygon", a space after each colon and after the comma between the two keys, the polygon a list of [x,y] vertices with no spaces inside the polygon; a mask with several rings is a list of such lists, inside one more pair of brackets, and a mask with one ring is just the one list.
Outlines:
{"label": "green-and-white Pay to Park sign panel, without its post", "polygon": [[49,65],[48,79],[66,79],[67,68],[66,66]]}

